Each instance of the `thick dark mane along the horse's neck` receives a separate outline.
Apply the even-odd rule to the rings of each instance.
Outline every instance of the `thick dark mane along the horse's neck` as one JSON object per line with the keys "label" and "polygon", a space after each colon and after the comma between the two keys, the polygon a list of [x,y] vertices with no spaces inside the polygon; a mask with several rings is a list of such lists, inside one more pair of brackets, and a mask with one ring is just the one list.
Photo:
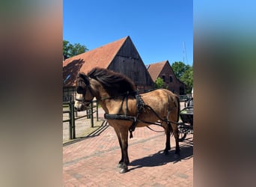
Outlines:
{"label": "thick dark mane along the horse's neck", "polygon": [[135,84],[131,79],[121,73],[95,67],[87,75],[91,79],[96,79],[100,82],[111,96],[117,96],[127,91],[132,94],[135,92]]}

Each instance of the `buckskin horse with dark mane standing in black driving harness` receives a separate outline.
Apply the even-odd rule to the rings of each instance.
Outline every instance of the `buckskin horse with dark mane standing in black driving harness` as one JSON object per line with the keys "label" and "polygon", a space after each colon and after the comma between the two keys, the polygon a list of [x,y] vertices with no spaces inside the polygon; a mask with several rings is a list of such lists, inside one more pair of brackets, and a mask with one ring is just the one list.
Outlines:
{"label": "buckskin horse with dark mane standing in black driving harness", "polygon": [[175,138],[175,155],[179,156],[177,121],[180,112],[179,97],[171,91],[157,89],[138,93],[131,79],[121,73],[95,67],[87,75],[79,72],[76,78],[77,111],[85,110],[94,97],[106,112],[109,125],[115,129],[121,147],[119,173],[128,171],[128,134],[132,138],[135,127],[159,124],[165,129],[166,143],[164,153],[171,150],[171,132]]}

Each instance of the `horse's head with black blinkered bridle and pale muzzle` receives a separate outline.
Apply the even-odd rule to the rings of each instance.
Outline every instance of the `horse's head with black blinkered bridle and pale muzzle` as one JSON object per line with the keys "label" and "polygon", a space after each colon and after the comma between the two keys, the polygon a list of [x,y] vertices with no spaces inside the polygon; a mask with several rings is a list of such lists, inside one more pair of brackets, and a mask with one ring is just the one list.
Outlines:
{"label": "horse's head with black blinkered bridle and pale muzzle", "polygon": [[75,109],[84,111],[89,103],[94,99],[91,93],[90,79],[85,73],[78,73],[76,78],[76,102]]}

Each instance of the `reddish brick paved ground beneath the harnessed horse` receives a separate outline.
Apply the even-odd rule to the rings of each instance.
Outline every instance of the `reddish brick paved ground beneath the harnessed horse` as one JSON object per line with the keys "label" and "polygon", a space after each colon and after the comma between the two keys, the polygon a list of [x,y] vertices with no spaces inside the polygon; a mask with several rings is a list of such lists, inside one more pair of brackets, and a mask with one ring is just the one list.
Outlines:
{"label": "reddish brick paved ground beneath the harnessed horse", "polygon": [[193,135],[180,142],[180,159],[175,159],[173,137],[165,156],[164,132],[135,129],[129,139],[129,172],[119,174],[118,138],[111,126],[105,127],[100,135],[63,147],[64,186],[193,186]]}

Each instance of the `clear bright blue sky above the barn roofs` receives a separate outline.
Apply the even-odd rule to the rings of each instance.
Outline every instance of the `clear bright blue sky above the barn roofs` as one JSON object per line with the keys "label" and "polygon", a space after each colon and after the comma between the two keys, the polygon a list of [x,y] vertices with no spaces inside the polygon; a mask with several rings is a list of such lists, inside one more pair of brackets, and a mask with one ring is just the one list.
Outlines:
{"label": "clear bright blue sky above the barn roofs", "polygon": [[63,1],[64,40],[91,50],[127,36],[144,64],[192,65],[193,1]]}

